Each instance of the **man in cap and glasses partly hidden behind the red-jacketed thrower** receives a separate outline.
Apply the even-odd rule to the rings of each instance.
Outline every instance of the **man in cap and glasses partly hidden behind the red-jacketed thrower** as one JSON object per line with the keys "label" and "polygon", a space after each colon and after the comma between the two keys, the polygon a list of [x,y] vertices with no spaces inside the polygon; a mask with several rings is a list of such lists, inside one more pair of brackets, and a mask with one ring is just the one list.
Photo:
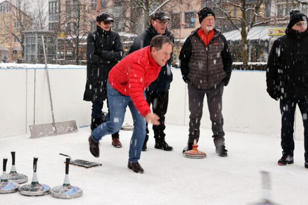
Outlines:
{"label": "man in cap and glasses partly hidden behind the red-jacketed thrower", "polygon": [[[151,39],[156,35],[167,36],[172,43],[175,42],[173,35],[167,29],[167,25],[169,23],[170,17],[168,17],[167,13],[164,11],[156,11],[151,16],[151,22],[144,33],[137,36],[132,46],[130,47],[129,53],[137,51],[141,48],[144,48],[150,45]],[[173,148],[167,144],[165,141],[165,114],[167,112],[168,107],[168,99],[169,99],[169,88],[170,83],[172,81],[172,73],[171,73],[171,58],[168,60],[168,63],[162,67],[158,78],[150,84],[150,86],[146,89],[146,101],[149,105],[152,105],[153,112],[156,113],[160,119],[160,125],[153,125],[154,138],[155,138],[155,148],[162,149],[165,151],[172,151]],[[144,140],[144,144],[142,147],[142,151],[147,150],[147,141],[149,130],[146,125],[146,136]]]}

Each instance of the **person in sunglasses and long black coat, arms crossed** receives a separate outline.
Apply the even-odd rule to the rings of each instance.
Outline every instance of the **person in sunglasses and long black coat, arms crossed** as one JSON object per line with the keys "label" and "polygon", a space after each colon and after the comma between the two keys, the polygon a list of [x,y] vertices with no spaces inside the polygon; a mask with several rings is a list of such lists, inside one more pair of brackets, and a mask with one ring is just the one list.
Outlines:
{"label": "person in sunglasses and long black coat, arms crossed", "polygon": [[[103,101],[107,99],[108,73],[123,55],[119,34],[110,30],[113,23],[111,15],[103,12],[97,16],[96,20],[97,30],[89,33],[87,39],[87,82],[84,93],[84,100],[92,102],[92,131],[103,122],[104,118],[108,117],[102,112]],[[113,147],[121,148],[119,132],[111,136]]]}

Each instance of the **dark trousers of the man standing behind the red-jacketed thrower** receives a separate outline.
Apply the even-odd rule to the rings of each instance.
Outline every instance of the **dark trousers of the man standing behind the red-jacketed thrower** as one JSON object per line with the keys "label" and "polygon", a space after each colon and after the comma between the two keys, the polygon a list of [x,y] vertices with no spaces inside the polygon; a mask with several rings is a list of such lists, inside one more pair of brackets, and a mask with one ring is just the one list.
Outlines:
{"label": "dark trousers of the man standing behind the red-jacketed thrower", "polygon": [[[160,118],[160,125],[153,125],[154,137],[160,136],[161,138],[165,137],[164,130],[165,126],[165,114],[167,113],[168,100],[169,100],[169,91],[157,92],[157,91],[145,91],[146,101],[149,105],[152,105],[153,113],[157,114]],[[147,124],[146,124],[146,134],[149,133]]]}

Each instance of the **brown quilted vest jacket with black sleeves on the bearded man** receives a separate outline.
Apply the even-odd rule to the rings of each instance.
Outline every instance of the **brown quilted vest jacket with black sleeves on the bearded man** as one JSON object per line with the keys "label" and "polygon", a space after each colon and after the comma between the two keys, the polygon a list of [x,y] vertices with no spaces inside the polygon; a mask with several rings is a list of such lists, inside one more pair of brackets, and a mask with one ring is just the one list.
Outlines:
{"label": "brown quilted vest jacket with black sleeves on the bearded man", "polygon": [[226,38],[214,29],[206,47],[198,35],[199,29],[191,32],[180,52],[183,80],[199,89],[213,88],[221,81],[227,86],[233,62]]}

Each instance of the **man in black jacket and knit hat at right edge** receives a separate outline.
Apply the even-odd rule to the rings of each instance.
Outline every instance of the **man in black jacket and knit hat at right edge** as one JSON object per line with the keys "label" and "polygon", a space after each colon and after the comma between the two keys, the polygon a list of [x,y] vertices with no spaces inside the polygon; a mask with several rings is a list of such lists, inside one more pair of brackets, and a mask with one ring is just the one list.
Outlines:
{"label": "man in black jacket and knit hat at right edge", "polygon": [[268,94],[280,99],[282,157],[278,165],[294,162],[294,115],[296,105],[304,125],[305,168],[308,168],[308,31],[307,16],[291,10],[284,36],[275,40],[268,56]]}

